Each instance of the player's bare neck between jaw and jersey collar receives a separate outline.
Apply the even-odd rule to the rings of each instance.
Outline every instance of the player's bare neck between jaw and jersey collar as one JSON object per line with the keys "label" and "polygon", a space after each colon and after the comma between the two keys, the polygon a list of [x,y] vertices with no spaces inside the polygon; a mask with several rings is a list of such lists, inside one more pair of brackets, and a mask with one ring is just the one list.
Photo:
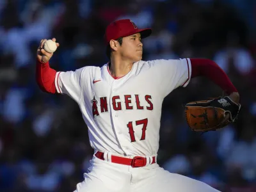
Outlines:
{"label": "player's bare neck between jaw and jersey collar", "polygon": [[131,61],[120,61],[111,58],[109,63],[109,72],[113,77],[122,77],[128,74],[132,69]]}

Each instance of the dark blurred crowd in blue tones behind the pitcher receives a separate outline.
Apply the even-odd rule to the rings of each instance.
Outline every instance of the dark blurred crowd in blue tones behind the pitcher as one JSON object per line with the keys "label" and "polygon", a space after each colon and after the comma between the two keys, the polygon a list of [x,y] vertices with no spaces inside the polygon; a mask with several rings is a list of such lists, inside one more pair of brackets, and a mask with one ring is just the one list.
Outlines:
{"label": "dark blurred crowd in blue tones behind the pitcher", "polygon": [[104,29],[124,18],[153,28],[143,60],[209,58],[241,95],[237,122],[204,134],[188,128],[183,106],[223,91],[196,77],[168,95],[159,164],[221,191],[256,191],[255,10],[254,0],[1,0],[0,191],[74,191],[83,180],[93,155],[86,125],[76,102],[36,85],[36,49],[55,37],[52,68],[102,66]]}

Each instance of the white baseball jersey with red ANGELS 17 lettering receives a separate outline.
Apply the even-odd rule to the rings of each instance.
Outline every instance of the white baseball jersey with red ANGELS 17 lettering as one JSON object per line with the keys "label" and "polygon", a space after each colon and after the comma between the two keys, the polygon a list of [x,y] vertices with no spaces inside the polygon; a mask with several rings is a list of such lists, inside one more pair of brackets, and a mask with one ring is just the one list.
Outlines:
{"label": "white baseball jersey with red ANGELS 17 lettering", "polygon": [[191,77],[189,59],[138,61],[124,77],[108,63],[57,72],[58,93],[76,100],[88,126],[90,145],[102,152],[156,156],[164,97]]}

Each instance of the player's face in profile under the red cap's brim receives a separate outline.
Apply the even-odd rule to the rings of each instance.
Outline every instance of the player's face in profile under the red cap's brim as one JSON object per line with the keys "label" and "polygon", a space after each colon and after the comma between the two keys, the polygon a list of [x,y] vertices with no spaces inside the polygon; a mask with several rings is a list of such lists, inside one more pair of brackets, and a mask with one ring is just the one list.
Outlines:
{"label": "player's face in profile under the red cap's brim", "polygon": [[131,60],[133,63],[142,59],[143,44],[141,43],[140,33],[123,38],[122,46],[120,46],[120,54],[123,58]]}

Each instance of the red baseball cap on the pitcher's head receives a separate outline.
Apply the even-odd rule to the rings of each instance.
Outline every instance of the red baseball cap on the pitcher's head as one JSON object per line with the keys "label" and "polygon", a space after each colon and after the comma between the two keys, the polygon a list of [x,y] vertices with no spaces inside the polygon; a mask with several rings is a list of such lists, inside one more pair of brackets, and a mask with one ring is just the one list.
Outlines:
{"label": "red baseball cap on the pitcher's head", "polygon": [[120,37],[134,35],[136,33],[141,34],[141,38],[150,36],[152,29],[145,28],[139,29],[134,22],[130,19],[120,19],[108,25],[105,32],[105,43],[108,45],[110,40],[116,40]]}

